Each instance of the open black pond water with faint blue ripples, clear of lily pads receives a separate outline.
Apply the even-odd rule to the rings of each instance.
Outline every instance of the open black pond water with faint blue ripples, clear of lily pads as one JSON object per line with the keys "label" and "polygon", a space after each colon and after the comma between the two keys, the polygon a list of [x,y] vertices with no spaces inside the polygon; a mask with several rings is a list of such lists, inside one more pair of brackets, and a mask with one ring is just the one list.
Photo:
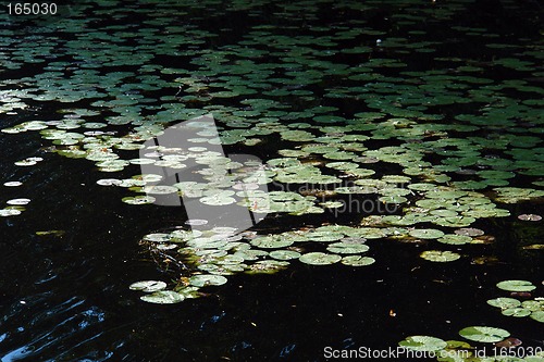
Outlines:
{"label": "open black pond water with faint blue ripples, clear of lily pads", "polygon": [[[535,36],[539,21],[544,21],[535,15],[542,11],[540,2],[526,1],[517,12],[497,7],[499,3],[463,2],[465,16],[455,22],[469,27],[485,25],[510,39]],[[395,11],[400,10],[384,5],[372,13],[370,24],[388,30]],[[205,21],[206,15],[202,11]],[[329,26],[333,15],[325,10],[319,15],[322,18],[314,22]],[[349,11],[334,14],[353,15]],[[259,13],[261,17],[239,16],[247,22],[223,18],[221,26],[233,30],[214,41],[233,41],[244,26],[268,21],[265,11]],[[447,36],[449,25],[429,26],[440,40]],[[479,41],[483,40],[459,39],[457,46],[438,46],[437,51],[456,54],[462,48],[465,55],[485,59],[487,50]],[[421,58],[421,62],[412,62],[413,71],[432,66],[423,55],[407,57]],[[20,72],[32,74],[32,68]],[[349,113],[350,105],[342,105]],[[462,113],[463,107],[444,112]],[[2,115],[1,126],[37,114],[47,116],[46,111]],[[150,230],[182,223],[185,216],[180,210],[119,202],[125,195],[96,185],[104,176],[90,163],[48,153],[44,150],[48,146],[37,133],[0,136],[2,179],[25,180],[24,196],[18,189],[3,187],[2,200],[33,200],[22,215],[0,220],[2,362],[321,361],[327,346],[384,349],[410,335],[459,339],[459,329],[494,325],[497,320],[526,346],[544,347],[541,324],[507,319],[485,303],[497,297],[495,284],[499,280],[542,280],[542,254],[511,251],[512,245],[541,242],[536,240],[542,235],[540,224],[527,226],[514,216],[477,223],[475,227],[492,230],[497,240],[474,246],[469,257],[491,253],[500,260],[496,264],[473,264],[471,258],[434,264],[418,257],[425,246],[370,240],[372,257],[379,261],[372,266],[297,264],[274,275],[240,274],[230,277],[223,287],[209,288],[208,298],[154,305],[141,302],[139,294],[127,286],[140,279],[175,279],[176,274],[158,267],[138,240]],[[45,161],[30,168],[13,165],[35,155]],[[542,213],[539,203],[505,208],[512,215]],[[270,220],[261,227],[279,225]],[[60,237],[35,235],[51,229],[65,233]]]}

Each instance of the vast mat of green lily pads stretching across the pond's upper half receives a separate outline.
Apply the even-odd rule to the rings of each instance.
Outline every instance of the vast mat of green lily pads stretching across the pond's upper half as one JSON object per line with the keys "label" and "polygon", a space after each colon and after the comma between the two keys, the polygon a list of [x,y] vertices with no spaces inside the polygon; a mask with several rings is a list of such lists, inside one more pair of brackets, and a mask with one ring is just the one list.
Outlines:
{"label": "vast mat of green lily pads stretching across the pond's upper half", "polygon": [[[370,20],[384,4],[411,11],[395,12],[391,28],[372,28]],[[213,228],[191,237],[182,230],[146,236],[153,250],[177,252],[175,258],[206,273],[170,291],[160,283],[134,287],[166,294],[166,300],[222,284],[223,274],[276,271],[292,260],[367,265],[373,260],[360,255],[368,249],[362,239],[435,240],[436,250],[421,257],[455,261],[459,253],[441,248],[489,242],[491,237],[467,230],[479,220],[508,216],[497,204],[544,197],[544,90],[539,83],[544,46],[528,39],[503,43],[492,29],[454,26],[459,37],[485,39],[493,57],[474,59],[460,50],[445,57],[441,49],[455,48],[456,37],[435,37],[432,29],[462,14],[460,4],[353,1],[330,10],[329,1],[83,3],[77,11],[86,16],[77,22],[42,22],[36,24],[40,32],[24,36],[2,28],[0,72],[11,78],[0,82],[0,113],[25,115],[25,122],[2,132],[14,137],[39,132],[50,151],[87,159],[100,172],[123,173],[98,183],[136,192],[123,198],[129,204],[178,195],[206,205],[281,214],[287,223],[308,213],[329,215],[330,210],[360,216],[357,226],[242,235],[238,240]],[[194,23],[174,18],[173,8]],[[119,18],[144,20],[128,26],[104,23],[113,9]],[[202,9],[211,18],[201,16]],[[251,22],[262,9],[272,9],[267,16],[275,22]],[[334,26],[312,23],[323,9]],[[346,11],[358,16],[346,17]],[[248,22],[239,22],[245,24],[242,34],[230,27],[210,29],[211,14],[247,16]],[[9,25],[10,20],[1,14],[0,22]],[[81,32],[82,23],[88,32]],[[233,41],[224,41],[225,34]],[[424,63],[432,68],[420,70]],[[10,73],[14,70],[22,72]],[[41,109],[47,118],[29,113]],[[209,113],[218,121],[218,137],[202,130],[188,140],[193,147],[159,147],[140,157],[145,142],[171,124]],[[255,165],[210,154],[211,139],[258,153],[265,161],[263,177],[236,174]],[[160,175],[140,172],[146,164],[182,170],[187,160],[202,165],[201,179],[164,184]],[[265,184],[272,191],[236,190],[240,180]],[[346,197],[375,198],[399,212],[346,211]],[[299,242],[316,250],[289,249]]]}

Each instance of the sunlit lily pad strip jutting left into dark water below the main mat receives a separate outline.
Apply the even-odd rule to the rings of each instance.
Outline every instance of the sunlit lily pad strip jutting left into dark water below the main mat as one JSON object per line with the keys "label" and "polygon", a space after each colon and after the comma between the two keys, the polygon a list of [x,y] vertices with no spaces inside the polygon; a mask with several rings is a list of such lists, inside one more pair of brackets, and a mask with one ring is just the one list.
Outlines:
{"label": "sunlit lily pad strip jutting left into dark water below the main mat", "polygon": [[[200,221],[189,221],[189,224],[195,222],[203,224]],[[154,283],[152,288],[147,287],[154,280],[137,282],[131,288],[153,292],[141,297],[145,301],[174,303],[198,297],[197,290],[201,287],[225,284],[225,276],[239,272],[272,274],[297,260],[310,265],[371,265],[375,260],[361,255],[370,250],[367,238],[385,236],[375,228],[342,225],[270,235],[236,232],[233,227],[213,227],[206,232],[178,227],[169,234],[146,235],[143,244],[163,253],[175,251],[177,257],[174,254],[173,259],[182,260],[191,275],[180,278],[173,290],[165,290],[166,284],[162,282]],[[143,285],[146,287],[140,288]],[[190,297],[186,295],[187,290]]]}

